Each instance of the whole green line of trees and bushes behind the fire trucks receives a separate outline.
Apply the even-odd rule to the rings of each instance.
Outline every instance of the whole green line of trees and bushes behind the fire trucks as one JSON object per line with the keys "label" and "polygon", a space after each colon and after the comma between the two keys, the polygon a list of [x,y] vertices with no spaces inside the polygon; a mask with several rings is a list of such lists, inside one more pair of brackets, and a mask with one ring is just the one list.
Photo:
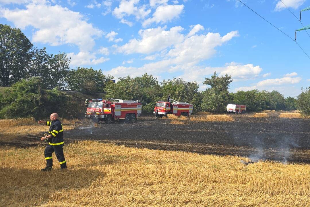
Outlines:
{"label": "whole green line of trees and bushes behind the fire trucks", "polygon": [[[216,72],[206,77],[207,86],[180,78],[158,82],[151,74],[118,78],[104,75],[101,70],[77,67],[70,69],[66,53],[48,54],[46,48],[33,47],[20,29],[0,24],[0,86],[11,87],[0,93],[0,118],[48,116],[58,112],[63,117],[83,115],[83,97],[69,95],[61,89],[84,94],[104,93],[104,97],[140,100],[144,113],[152,113],[156,101],[171,98],[193,104],[194,111],[223,113],[227,104],[247,105],[248,111],[301,110],[310,114],[310,88],[297,97],[287,97],[277,91],[238,91],[229,93],[230,75]],[[77,110],[78,109],[78,110]]]}

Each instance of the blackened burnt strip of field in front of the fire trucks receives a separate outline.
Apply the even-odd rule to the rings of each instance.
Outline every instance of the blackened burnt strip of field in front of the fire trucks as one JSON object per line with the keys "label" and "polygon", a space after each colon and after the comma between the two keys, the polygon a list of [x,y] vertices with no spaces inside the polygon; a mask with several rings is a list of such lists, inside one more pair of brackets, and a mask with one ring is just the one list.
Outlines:
{"label": "blackened burnt strip of field in front of the fire trucks", "polygon": [[[64,132],[65,142],[99,140],[131,147],[190,151],[200,154],[240,155],[251,160],[310,163],[310,119],[268,118],[232,115],[234,122],[197,122],[170,124],[168,119],[143,117],[137,123],[98,124],[88,120]],[[23,143],[2,145],[33,146],[42,144],[38,136]]]}

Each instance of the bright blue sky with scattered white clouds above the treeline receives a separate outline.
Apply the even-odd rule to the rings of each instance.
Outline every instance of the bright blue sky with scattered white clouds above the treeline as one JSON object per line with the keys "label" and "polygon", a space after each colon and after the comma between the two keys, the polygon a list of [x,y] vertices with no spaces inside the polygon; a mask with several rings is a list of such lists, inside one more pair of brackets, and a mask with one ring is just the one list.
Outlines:
{"label": "bright blue sky with scattered white clouds above the treeline", "polygon": [[[309,0],[243,0],[294,38]],[[310,24],[310,10],[302,23]],[[214,71],[232,75],[230,91],[277,90],[296,96],[310,86],[310,59],[286,35],[236,0],[0,0],[0,22],[22,29],[35,47],[66,52],[71,68],[116,77],[183,78],[200,89]],[[310,30],[308,30],[310,34]],[[310,56],[310,37],[297,33]]]}

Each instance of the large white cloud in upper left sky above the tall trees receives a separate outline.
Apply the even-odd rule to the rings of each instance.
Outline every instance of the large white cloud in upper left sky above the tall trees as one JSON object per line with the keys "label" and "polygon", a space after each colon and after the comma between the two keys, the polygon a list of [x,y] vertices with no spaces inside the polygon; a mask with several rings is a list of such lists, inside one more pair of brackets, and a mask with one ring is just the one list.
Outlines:
{"label": "large white cloud in upper left sky above the tall trees", "polygon": [[102,31],[87,23],[81,13],[59,5],[30,3],[26,9],[2,9],[0,16],[18,28],[35,28],[32,37],[35,43],[73,44],[80,50],[89,51],[95,45],[95,38],[102,35]]}

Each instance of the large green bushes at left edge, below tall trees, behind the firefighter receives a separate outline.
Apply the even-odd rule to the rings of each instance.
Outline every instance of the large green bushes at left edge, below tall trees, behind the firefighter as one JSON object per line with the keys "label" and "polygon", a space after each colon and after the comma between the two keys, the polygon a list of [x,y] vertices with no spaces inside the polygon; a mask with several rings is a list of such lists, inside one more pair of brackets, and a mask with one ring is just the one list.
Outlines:
{"label": "large green bushes at left edge, below tall trees, behind the firefighter", "polygon": [[[12,85],[0,96],[0,118],[48,117],[58,113],[61,117],[78,117],[81,113],[78,101],[58,87],[43,90],[42,79],[23,79]],[[84,108],[84,106],[82,106]]]}

